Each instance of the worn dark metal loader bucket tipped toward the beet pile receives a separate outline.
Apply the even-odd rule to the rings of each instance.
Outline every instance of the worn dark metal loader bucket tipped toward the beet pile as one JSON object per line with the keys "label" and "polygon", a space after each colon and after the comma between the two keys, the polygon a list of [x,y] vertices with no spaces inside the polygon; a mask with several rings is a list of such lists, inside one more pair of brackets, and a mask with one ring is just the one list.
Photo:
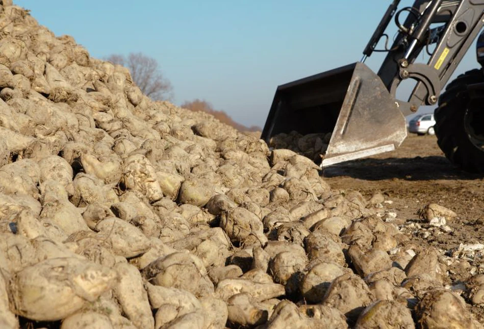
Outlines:
{"label": "worn dark metal loader bucket tipped toward the beet pile", "polygon": [[406,137],[405,118],[381,79],[354,63],[277,87],[261,138],[332,133],[321,167],[392,151]]}

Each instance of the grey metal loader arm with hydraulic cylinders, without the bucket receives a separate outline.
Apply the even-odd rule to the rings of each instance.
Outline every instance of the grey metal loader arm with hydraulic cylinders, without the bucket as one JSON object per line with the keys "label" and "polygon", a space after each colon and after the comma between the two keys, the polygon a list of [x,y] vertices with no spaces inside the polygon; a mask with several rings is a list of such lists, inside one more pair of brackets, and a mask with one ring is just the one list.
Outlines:
{"label": "grey metal loader arm with hydraulic cylinders, without the bucket", "polygon": [[[402,80],[417,80],[409,100],[397,101],[404,115],[437,102],[441,89],[484,25],[484,0],[417,0],[409,11],[412,13],[401,24],[378,71],[393,97]],[[428,62],[415,63],[428,47],[434,47]]]}

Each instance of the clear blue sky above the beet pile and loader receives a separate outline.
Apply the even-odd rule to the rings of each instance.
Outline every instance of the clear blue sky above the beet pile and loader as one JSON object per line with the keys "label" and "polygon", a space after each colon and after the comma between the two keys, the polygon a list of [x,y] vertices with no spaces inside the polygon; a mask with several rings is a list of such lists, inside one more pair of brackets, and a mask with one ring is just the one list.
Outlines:
{"label": "clear blue sky above the beet pile and loader", "polygon": [[[95,58],[143,52],[171,81],[173,102],[211,102],[263,126],[277,85],[362,57],[390,1],[14,0]],[[411,5],[411,1],[402,1]],[[393,24],[393,23],[392,23]],[[456,73],[477,67],[474,48]],[[378,70],[382,57],[366,64]]]}

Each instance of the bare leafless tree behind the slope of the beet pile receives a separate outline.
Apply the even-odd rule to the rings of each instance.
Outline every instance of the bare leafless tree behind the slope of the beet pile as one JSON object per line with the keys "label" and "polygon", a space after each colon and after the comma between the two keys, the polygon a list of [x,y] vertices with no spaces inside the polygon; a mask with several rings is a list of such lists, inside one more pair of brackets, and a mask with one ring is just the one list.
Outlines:
{"label": "bare leafless tree behind the slope of the beet pile", "polygon": [[158,62],[154,58],[141,52],[132,52],[128,57],[112,54],[107,60],[113,64],[127,67],[135,85],[151,99],[170,100],[173,98],[173,87],[161,72]]}

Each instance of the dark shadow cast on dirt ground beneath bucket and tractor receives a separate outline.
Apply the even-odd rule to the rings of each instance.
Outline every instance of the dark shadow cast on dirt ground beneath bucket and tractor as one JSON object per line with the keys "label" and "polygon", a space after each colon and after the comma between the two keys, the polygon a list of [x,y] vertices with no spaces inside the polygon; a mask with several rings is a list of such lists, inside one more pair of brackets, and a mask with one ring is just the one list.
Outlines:
{"label": "dark shadow cast on dirt ground beneath bucket and tractor", "polygon": [[402,179],[410,181],[472,180],[482,177],[482,175],[465,173],[455,168],[443,156],[359,159],[325,168],[323,176],[349,176],[363,180]]}

